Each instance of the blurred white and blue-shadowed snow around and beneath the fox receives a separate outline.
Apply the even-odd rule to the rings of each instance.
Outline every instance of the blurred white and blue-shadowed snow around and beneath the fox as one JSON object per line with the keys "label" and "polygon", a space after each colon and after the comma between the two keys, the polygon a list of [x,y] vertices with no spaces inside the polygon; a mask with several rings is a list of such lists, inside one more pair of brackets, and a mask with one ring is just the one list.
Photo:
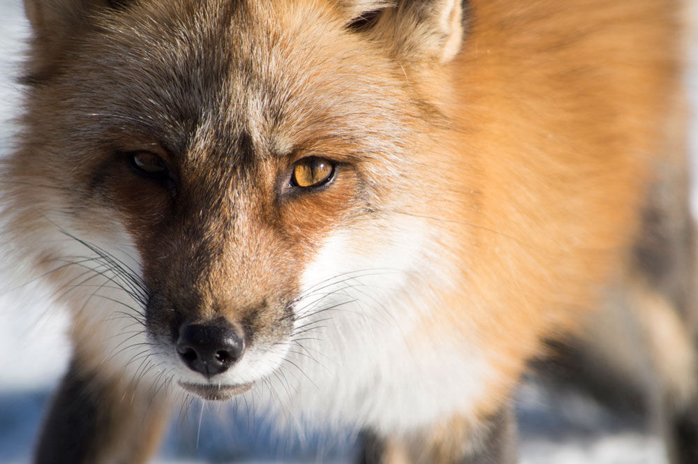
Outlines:
{"label": "blurred white and blue-shadowed snow around and beneath the fox", "polygon": [[[698,24],[698,8],[693,8],[691,17]],[[25,38],[21,0],[0,0],[0,156],[12,146],[10,135],[15,128],[10,119],[19,97],[13,77]],[[690,55],[692,66],[686,76],[693,110],[690,144],[692,153],[698,154],[698,47],[692,47]],[[698,156],[693,163],[693,171],[698,172]],[[696,192],[693,198],[698,213]],[[42,299],[46,292],[40,287],[6,287],[0,282],[0,464],[24,464],[30,461],[46,402],[66,368],[67,324],[60,311],[47,311]],[[355,447],[334,434],[304,442],[295,437],[274,438],[262,418],[242,414],[235,421],[226,410],[225,405],[193,404],[186,414],[175,413],[156,463],[352,462]],[[517,413],[522,464],[666,462],[658,437],[583,396],[528,383],[519,392]]]}

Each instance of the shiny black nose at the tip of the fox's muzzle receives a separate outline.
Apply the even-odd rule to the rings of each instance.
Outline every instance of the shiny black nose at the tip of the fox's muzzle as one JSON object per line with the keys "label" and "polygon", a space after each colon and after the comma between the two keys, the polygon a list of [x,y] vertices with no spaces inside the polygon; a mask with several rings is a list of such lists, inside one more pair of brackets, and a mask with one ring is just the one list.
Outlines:
{"label": "shiny black nose at the tip of the fox's muzzle", "polygon": [[228,370],[242,357],[245,340],[242,331],[225,320],[206,324],[183,324],[179,328],[177,352],[192,371],[213,377]]}

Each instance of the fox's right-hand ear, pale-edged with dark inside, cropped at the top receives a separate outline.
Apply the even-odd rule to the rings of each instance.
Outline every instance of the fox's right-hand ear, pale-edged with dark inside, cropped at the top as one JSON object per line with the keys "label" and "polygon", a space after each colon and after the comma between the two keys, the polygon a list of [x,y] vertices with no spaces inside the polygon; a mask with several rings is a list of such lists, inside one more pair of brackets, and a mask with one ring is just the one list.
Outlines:
{"label": "fox's right-hand ear, pale-edged with dark inside, cropped at the top", "polygon": [[[348,28],[380,41],[397,59],[447,63],[461,50],[463,0],[348,0]],[[347,5],[348,4],[348,5]]]}

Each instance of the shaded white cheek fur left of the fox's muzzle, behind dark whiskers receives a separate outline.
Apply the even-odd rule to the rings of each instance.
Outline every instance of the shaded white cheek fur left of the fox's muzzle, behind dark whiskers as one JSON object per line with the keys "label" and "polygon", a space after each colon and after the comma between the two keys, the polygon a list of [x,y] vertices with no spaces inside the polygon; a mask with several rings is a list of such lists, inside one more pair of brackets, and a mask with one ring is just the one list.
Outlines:
{"label": "shaded white cheek fur left of the fox's muzzle, behind dark whiskers", "polygon": [[64,232],[57,234],[62,236],[59,253],[73,257],[76,273],[84,274],[77,279],[81,285],[70,290],[73,338],[102,373],[156,386],[165,366],[144,327],[147,295],[128,234],[118,223],[108,236],[71,231],[76,239],[69,239]]}

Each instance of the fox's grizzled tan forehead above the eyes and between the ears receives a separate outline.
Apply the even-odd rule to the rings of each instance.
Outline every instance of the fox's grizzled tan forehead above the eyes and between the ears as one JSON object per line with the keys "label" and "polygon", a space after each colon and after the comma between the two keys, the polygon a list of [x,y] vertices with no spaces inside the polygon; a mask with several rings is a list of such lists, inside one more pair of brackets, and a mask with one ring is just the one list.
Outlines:
{"label": "fox's grizzled tan forehead above the eyes and between the ears", "polygon": [[68,112],[117,138],[144,133],[191,163],[284,156],[309,141],[370,143],[378,126],[396,132],[387,112],[421,112],[395,64],[318,2],[138,2],[103,18],[81,47],[64,75],[80,89]]}

